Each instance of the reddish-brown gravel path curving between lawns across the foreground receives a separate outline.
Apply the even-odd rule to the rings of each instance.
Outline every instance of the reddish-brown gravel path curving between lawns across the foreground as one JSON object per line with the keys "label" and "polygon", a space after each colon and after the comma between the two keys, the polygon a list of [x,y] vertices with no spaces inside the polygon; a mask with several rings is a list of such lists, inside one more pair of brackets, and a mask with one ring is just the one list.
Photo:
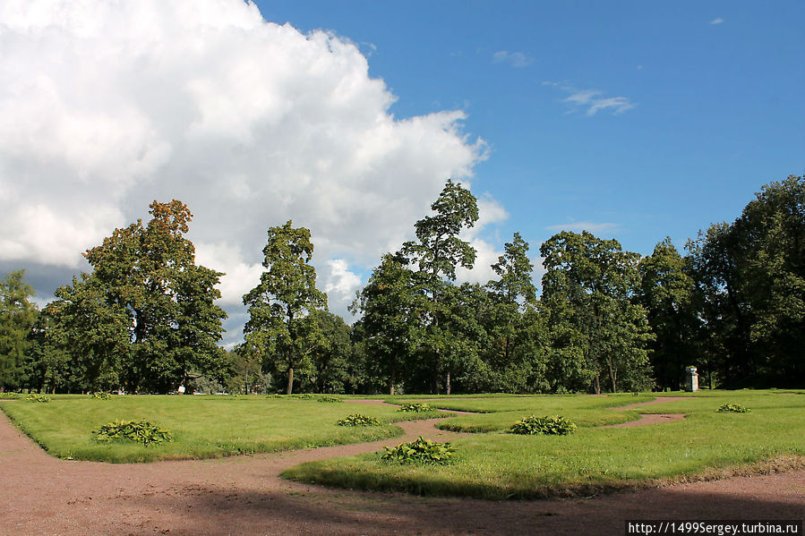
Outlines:
{"label": "reddish-brown gravel path curving between lawns across the foreground", "polygon": [[0,415],[0,534],[622,534],[625,519],[800,519],[805,471],[600,498],[494,503],[324,489],[283,481],[295,464],[373,452],[403,438],[272,455],[101,464],[48,456]]}

